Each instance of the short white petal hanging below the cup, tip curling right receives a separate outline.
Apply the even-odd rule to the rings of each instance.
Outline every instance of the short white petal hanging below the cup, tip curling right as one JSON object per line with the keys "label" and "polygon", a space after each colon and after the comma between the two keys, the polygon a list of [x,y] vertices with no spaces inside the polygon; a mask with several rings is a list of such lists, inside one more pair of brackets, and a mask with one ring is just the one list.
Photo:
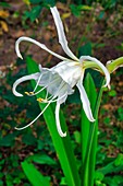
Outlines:
{"label": "short white petal hanging below the cup, tip curling right", "polygon": [[61,137],[65,137],[66,132],[63,133],[63,131],[61,129],[59,112],[60,112],[60,104],[57,103],[57,106],[56,106],[56,123],[57,123],[58,132]]}

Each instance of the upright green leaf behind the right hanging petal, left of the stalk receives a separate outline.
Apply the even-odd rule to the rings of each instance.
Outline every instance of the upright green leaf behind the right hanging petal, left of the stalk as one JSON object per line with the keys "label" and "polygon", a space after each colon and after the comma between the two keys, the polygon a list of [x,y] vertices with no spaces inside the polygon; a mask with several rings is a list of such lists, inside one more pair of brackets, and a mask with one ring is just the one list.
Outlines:
{"label": "upright green leaf behind the right hanging petal, left of the stalk", "polygon": [[[94,80],[89,73],[86,75],[84,86],[88,95],[91,109],[94,111],[97,100],[97,92]],[[90,125],[91,124],[86,117],[85,112],[82,109],[82,186],[88,186],[88,181],[90,179],[89,166],[85,164]]]}

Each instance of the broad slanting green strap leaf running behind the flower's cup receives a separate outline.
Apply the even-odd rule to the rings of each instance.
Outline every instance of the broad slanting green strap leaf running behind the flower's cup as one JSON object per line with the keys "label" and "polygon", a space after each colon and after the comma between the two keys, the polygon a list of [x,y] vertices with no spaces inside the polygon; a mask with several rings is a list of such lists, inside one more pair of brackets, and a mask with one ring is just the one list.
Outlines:
{"label": "broad slanting green strap leaf running behind the flower's cup", "polygon": [[[27,68],[28,68],[29,73],[35,73],[38,71],[37,65],[29,57],[27,57],[26,62],[27,62]],[[33,86],[35,86],[34,81],[33,81]],[[39,96],[45,97],[44,94],[45,92],[41,92],[40,94],[37,95],[37,97]],[[39,107],[40,109],[44,109],[45,104],[39,104]],[[65,138],[61,138],[59,136],[57,127],[56,127],[54,111],[52,111],[51,105],[44,113],[44,118],[50,131],[53,146],[59,156],[67,185],[79,186],[81,182],[79,182],[79,176],[77,172],[76,160],[73,153],[69,132]],[[62,129],[63,131],[65,131],[66,125],[65,125],[65,120],[64,120],[62,113],[60,113],[60,118],[61,118]]]}

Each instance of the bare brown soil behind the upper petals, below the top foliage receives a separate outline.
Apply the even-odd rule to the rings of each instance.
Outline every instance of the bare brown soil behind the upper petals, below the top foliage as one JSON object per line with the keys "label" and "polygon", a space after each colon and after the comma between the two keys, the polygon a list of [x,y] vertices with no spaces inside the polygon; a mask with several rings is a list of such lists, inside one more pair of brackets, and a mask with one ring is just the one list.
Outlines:
{"label": "bare brown soil behind the upper petals, below the top foliage", "polygon": [[[23,13],[27,7],[21,1],[9,1],[11,8],[7,10],[7,18],[1,16],[5,22],[8,31],[3,27],[0,30],[0,65],[11,65],[16,60],[14,50],[15,40],[20,36],[29,36],[46,44],[53,51],[63,54],[61,46],[58,44],[56,26],[49,10],[44,9],[38,23],[24,21]],[[102,10],[100,5],[94,5],[93,10],[82,12],[79,18],[71,14],[67,7],[59,3],[58,9],[61,12],[70,48],[76,53],[76,48],[89,40],[94,46],[94,56],[102,62],[122,56],[123,51],[118,49],[123,40],[123,10],[121,12],[106,12],[102,19],[99,19],[99,12]],[[2,10],[2,9],[1,9]],[[86,39],[84,39],[86,37]],[[27,48],[28,46],[28,48]],[[51,56],[42,51],[35,45],[22,44],[22,51],[32,54],[34,59],[40,63],[48,63]],[[56,59],[57,61],[57,59]]]}

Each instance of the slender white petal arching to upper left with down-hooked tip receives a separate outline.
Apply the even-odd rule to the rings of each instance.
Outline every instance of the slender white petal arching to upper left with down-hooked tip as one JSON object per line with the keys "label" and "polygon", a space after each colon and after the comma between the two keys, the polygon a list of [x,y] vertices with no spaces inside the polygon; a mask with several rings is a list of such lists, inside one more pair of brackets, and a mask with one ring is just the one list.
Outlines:
{"label": "slender white petal arching to upper left with down-hooked tip", "polygon": [[50,49],[48,49],[48,48],[46,47],[46,45],[40,44],[39,42],[37,42],[37,40],[33,39],[33,38],[29,38],[29,37],[25,37],[25,36],[20,37],[20,38],[16,40],[16,43],[15,43],[15,51],[16,51],[19,58],[22,58],[22,59],[23,59],[23,57],[22,57],[22,55],[21,55],[21,53],[20,53],[20,48],[19,48],[20,43],[23,42],[23,40],[25,40],[25,42],[30,42],[30,43],[39,46],[41,49],[45,49],[46,51],[50,53],[51,55],[56,56],[57,58],[59,58],[59,59],[61,59],[61,60],[71,61],[70,59],[64,58],[64,57],[62,57],[62,56],[60,56],[60,55],[51,51]]}

